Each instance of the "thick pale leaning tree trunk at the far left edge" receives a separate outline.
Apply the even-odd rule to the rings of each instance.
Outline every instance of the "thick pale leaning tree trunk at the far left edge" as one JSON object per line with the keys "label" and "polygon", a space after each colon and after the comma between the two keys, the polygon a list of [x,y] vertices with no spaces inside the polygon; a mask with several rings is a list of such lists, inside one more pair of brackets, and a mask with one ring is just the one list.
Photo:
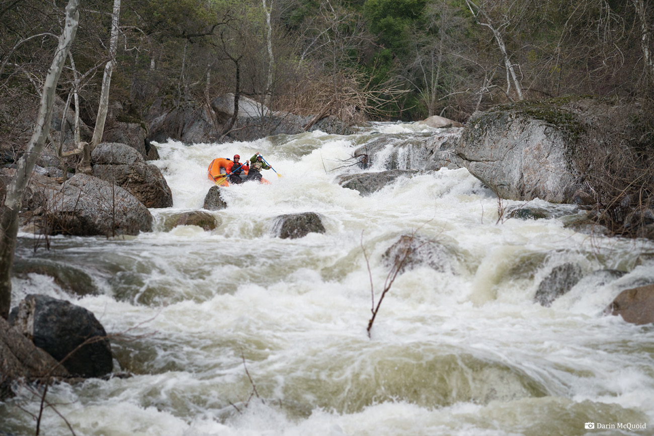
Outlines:
{"label": "thick pale leaning tree trunk at the far left edge", "polygon": [[68,56],[68,50],[71,48],[77,32],[79,22],[78,3],[78,0],[69,0],[66,5],[65,26],[59,37],[59,44],[54,53],[52,65],[50,65],[43,84],[37,123],[27,144],[25,154],[18,160],[16,176],[7,186],[7,197],[5,197],[5,205],[0,216],[0,316],[3,318],[9,316],[11,305],[11,269],[14,263],[16,235],[18,234],[18,212],[22,207],[23,192],[34,169],[34,163],[50,133],[52,105],[54,104],[57,82],[66,61],[66,56]]}

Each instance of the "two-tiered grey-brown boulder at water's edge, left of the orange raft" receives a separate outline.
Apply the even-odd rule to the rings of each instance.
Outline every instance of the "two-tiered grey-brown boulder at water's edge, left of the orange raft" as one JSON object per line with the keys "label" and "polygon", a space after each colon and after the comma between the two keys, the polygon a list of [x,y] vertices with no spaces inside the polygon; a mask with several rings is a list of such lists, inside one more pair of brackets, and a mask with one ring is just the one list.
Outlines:
{"label": "two-tiered grey-brown boulder at water's edge, left of the orange raft", "polygon": [[91,163],[95,177],[120,186],[145,207],[173,205],[173,193],[161,170],[152,163],[145,163],[133,147],[120,143],[98,144],[91,154]]}

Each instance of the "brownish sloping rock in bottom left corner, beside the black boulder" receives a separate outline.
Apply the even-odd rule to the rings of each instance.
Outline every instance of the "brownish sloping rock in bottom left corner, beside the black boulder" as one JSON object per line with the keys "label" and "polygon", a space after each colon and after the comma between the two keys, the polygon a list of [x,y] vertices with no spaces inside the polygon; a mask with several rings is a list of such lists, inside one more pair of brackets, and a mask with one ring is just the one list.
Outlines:
{"label": "brownish sloping rock in bottom left corner, beside the black boulder", "polygon": [[46,377],[69,377],[69,373],[0,316],[0,401],[14,395],[13,382]]}

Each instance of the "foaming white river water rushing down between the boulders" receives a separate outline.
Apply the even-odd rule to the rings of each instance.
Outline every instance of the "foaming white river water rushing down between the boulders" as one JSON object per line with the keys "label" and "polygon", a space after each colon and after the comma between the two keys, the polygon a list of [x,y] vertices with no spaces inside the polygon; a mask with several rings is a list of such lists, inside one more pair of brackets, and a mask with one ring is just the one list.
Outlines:
{"label": "foaming white river water rushing down between the boulders", "polygon": [[[45,293],[92,310],[126,335],[112,339],[115,371],[133,375],[54,386],[58,413],[46,409],[43,434],[69,435],[67,423],[77,435],[654,434],[654,328],[602,314],[621,290],[654,282],[654,245],[555,219],[498,220],[498,199],[466,169],[400,178],[368,197],[337,184],[361,171],[346,161],[360,144],[419,130],[170,141],[154,163],[174,207],[151,210],[152,233],[55,237],[50,250],[22,235],[19,258],[86,271],[95,292],[29,275],[14,279],[14,305]],[[165,231],[166,216],[202,208],[211,159],[254,152],[281,177],[224,189],[214,231]],[[291,212],[317,212],[326,233],[275,237],[275,217]],[[449,255],[396,278],[369,338],[384,253],[412,234]],[[627,274],[534,303],[566,262]],[[0,429],[33,434],[38,410],[20,390],[0,403]]]}

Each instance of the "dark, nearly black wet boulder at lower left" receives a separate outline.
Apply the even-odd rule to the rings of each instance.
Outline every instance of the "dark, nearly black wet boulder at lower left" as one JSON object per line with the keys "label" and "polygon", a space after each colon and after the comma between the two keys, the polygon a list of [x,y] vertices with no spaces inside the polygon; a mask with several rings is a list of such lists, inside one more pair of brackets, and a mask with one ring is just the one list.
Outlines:
{"label": "dark, nearly black wet boulder at lower left", "polygon": [[14,327],[36,346],[63,361],[71,375],[101,377],[111,373],[113,358],[107,332],[83,307],[31,294],[20,302],[18,310],[12,310],[11,318]]}

